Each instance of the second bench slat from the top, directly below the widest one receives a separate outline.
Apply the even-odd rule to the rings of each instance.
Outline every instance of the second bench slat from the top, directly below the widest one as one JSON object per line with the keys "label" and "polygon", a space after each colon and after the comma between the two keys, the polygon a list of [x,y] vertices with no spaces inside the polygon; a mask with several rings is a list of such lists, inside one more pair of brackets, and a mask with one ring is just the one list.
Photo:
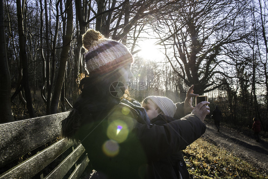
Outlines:
{"label": "second bench slat from the top, directly below the widest one", "polygon": [[30,179],[72,145],[73,142],[66,139],[61,139],[60,141],[49,146],[48,148],[45,148],[40,153],[37,153],[26,161],[3,173],[2,175],[0,175],[0,179]]}

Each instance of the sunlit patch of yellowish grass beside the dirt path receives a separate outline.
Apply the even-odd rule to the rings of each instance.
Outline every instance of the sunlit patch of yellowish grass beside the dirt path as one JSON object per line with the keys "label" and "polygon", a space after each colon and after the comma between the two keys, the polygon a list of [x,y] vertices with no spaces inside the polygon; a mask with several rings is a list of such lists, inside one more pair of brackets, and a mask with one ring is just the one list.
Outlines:
{"label": "sunlit patch of yellowish grass beside the dirt path", "polygon": [[267,173],[203,138],[188,146],[183,155],[192,179],[268,179]]}

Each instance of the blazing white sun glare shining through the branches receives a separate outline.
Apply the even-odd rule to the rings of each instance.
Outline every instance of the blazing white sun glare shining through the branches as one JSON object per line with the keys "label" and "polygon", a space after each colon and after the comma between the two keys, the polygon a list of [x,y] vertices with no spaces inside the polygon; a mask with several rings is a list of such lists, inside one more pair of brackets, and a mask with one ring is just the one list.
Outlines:
{"label": "blazing white sun glare shining through the branches", "polygon": [[161,52],[161,46],[155,45],[155,41],[148,39],[140,42],[141,51],[137,53],[137,56],[144,58],[145,60],[161,61],[164,58]]}

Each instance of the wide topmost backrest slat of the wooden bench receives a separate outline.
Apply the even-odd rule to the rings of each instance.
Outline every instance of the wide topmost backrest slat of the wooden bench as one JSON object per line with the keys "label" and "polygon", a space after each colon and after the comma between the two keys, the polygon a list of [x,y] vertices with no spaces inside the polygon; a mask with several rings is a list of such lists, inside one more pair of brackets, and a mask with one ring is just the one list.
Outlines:
{"label": "wide topmost backrest slat of the wooden bench", "polygon": [[0,168],[60,136],[69,112],[0,124]]}

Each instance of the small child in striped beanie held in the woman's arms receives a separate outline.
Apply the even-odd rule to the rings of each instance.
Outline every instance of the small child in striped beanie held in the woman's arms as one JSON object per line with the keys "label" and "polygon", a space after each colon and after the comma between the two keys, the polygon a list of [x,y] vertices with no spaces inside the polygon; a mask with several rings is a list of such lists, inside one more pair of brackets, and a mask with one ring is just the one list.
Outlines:
{"label": "small child in striped beanie held in the woman's arms", "polygon": [[[179,109],[182,108],[180,105],[183,103],[174,104],[171,99],[162,96],[148,96],[141,103],[153,125],[163,125],[176,120],[171,116],[179,116]],[[167,170],[171,168],[170,165],[173,170]],[[181,151],[154,162],[154,166],[163,178],[189,179],[190,177]]]}

